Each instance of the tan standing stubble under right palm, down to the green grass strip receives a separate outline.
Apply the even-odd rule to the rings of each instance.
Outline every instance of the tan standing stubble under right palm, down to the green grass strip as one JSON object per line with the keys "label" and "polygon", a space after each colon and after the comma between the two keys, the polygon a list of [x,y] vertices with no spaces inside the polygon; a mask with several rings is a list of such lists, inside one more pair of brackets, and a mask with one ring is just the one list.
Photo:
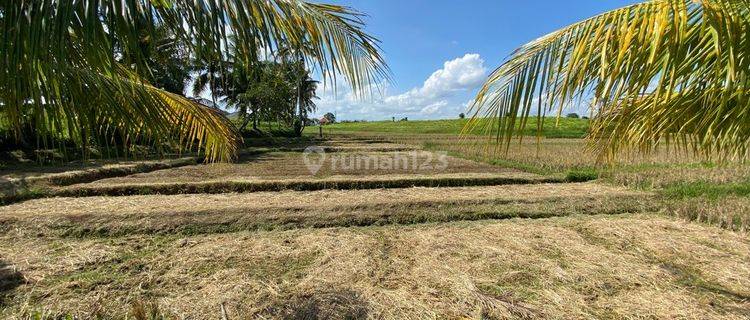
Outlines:
{"label": "tan standing stubble under right palm, down to the green grass strip", "polygon": [[622,154],[618,162],[604,164],[597,160],[582,139],[549,139],[537,142],[535,137],[514,138],[507,154],[496,152],[496,144],[487,137],[444,134],[387,134],[382,132],[338,132],[329,136],[356,136],[360,139],[391,141],[421,146],[424,150],[447,151],[449,155],[501,167],[516,168],[540,174],[560,174],[570,170],[590,169],[617,184],[637,187],[665,187],[684,182],[732,183],[750,181],[750,165],[716,163],[690,152],[662,145],[646,155]]}

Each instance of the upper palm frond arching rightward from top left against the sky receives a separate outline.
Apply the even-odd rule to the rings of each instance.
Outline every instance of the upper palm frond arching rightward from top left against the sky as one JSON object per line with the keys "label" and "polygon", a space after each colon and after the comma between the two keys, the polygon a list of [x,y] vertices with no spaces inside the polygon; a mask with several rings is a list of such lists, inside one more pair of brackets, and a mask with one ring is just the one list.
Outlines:
{"label": "upper palm frond arching rightward from top left against the sky", "polygon": [[304,57],[335,83],[343,75],[357,91],[388,79],[379,41],[364,30],[364,14],[348,7],[301,0],[176,1],[158,12],[174,28],[188,26],[196,48],[230,45],[243,63],[258,48],[306,48]]}

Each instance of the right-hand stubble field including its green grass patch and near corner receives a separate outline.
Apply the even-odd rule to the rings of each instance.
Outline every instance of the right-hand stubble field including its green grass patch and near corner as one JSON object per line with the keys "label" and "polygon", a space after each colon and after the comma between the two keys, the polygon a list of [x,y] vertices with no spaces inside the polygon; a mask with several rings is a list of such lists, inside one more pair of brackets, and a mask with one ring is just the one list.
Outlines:
{"label": "right-hand stubble field including its green grass patch and near corner", "polygon": [[[333,131],[335,132],[335,131]],[[422,146],[449,155],[566,181],[598,179],[602,183],[659,193],[670,199],[670,213],[715,223],[733,230],[750,230],[750,164],[712,162],[691,152],[661,145],[649,154],[621,154],[618,162],[602,164],[582,139],[513,140],[507,153],[495,152],[486,137],[446,134],[347,132],[330,134],[370,141]],[[677,198],[677,199],[676,199]],[[726,202],[724,199],[732,198]]]}

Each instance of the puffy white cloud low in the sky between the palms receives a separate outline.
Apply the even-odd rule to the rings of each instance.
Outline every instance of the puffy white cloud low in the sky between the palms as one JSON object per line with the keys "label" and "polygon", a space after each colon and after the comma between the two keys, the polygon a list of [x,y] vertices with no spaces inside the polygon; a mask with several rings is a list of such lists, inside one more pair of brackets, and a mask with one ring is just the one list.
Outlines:
{"label": "puffy white cloud low in the sky between the palms", "polygon": [[[432,73],[420,87],[407,92],[361,101],[351,90],[337,95],[327,93],[318,103],[318,110],[325,113],[340,111],[340,118],[383,119],[393,115],[411,117],[455,117],[466,105],[456,98],[481,85],[487,76],[484,60],[479,54],[466,54],[443,64],[443,68]],[[462,96],[462,97],[458,97]],[[465,101],[465,100],[464,100]]]}

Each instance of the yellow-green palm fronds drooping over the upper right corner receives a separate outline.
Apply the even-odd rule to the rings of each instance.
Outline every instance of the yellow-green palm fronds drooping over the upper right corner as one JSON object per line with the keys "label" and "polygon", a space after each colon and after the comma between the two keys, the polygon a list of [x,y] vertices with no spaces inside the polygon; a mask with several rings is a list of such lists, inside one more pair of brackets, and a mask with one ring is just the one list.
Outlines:
{"label": "yellow-green palm fronds drooping over the upper right corner", "polygon": [[591,97],[588,135],[601,160],[662,142],[746,159],[750,2],[652,0],[570,25],[517,49],[488,78],[465,131],[507,150],[532,113],[558,119]]}

